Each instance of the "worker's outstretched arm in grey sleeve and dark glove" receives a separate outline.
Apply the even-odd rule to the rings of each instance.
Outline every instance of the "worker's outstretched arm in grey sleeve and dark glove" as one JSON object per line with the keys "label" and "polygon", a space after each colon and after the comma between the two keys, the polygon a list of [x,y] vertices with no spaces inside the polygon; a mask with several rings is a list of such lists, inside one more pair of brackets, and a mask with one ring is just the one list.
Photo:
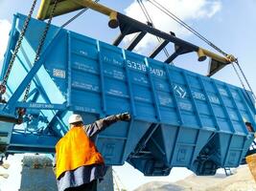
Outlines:
{"label": "worker's outstretched arm in grey sleeve and dark glove", "polygon": [[128,113],[112,115],[109,117],[102,118],[100,120],[95,121],[92,124],[85,125],[85,132],[88,137],[93,137],[101,131],[105,130],[106,127],[111,124],[119,121],[119,120],[129,120],[130,116]]}

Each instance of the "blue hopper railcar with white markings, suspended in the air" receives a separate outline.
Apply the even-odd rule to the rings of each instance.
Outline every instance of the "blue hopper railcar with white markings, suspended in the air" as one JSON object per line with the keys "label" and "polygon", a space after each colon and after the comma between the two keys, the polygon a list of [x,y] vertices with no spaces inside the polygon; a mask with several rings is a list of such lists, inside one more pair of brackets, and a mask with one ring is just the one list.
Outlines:
{"label": "blue hopper railcar with white markings, suspended in the air", "polygon": [[[24,19],[17,14],[14,20],[2,74]],[[35,19],[30,23],[24,51],[18,53],[20,59],[16,59],[8,81],[10,96],[28,74],[24,68],[31,68],[44,26]],[[52,45],[57,32],[58,40]],[[41,120],[26,126],[36,130],[41,125],[43,133],[55,138],[45,138],[44,152],[50,152],[47,149],[67,131],[70,111],[80,113],[86,123],[128,112],[131,121],[118,122],[96,138],[106,164],[128,161],[147,176],[169,175],[174,166],[187,167],[198,175],[214,175],[217,168],[236,167],[244,159],[254,138],[244,120],[255,126],[255,108],[250,93],[243,89],[75,32],[58,31],[55,26],[50,28],[44,50],[50,51],[41,57],[43,66],[32,89],[40,93],[36,101],[45,104],[26,105],[28,114],[35,116],[38,111],[51,121],[53,131],[49,132]],[[13,152],[18,152],[21,141],[20,136],[13,136],[8,142]],[[29,142],[24,141],[22,151],[32,147]],[[34,138],[32,143],[31,151],[39,144],[44,148],[41,140],[36,144]]]}

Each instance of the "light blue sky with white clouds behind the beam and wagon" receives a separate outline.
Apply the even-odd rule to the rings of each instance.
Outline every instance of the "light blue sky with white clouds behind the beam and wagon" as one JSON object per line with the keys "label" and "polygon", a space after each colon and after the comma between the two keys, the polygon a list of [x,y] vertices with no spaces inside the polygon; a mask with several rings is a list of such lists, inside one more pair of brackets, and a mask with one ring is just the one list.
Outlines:
{"label": "light blue sky with white clouds behind the beam and wagon", "polygon": [[[12,15],[15,12],[27,14],[31,7],[32,0],[27,0],[26,3],[20,0],[12,0],[12,5],[10,2],[10,0],[0,0],[0,67],[8,43],[8,33],[12,26]],[[136,1],[102,0],[100,2],[114,10],[128,14],[128,16],[142,22],[146,22],[146,18]],[[157,0],[157,2],[162,4],[169,11],[174,12],[176,16],[192,26],[224,52],[231,53],[238,57],[252,89],[254,91],[256,90],[254,71],[256,68],[254,63],[254,56],[256,54],[255,0],[233,0],[232,3],[226,0]],[[164,32],[175,32],[177,37],[214,51],[211,47],[198,39],[197,36],[187,32],[171,18],[153,8],[149,2],[145,2],[145,5],[149,10],[151,19],[156,28]],[[37,10],[38,4],[35,7],[35,12]],[[72,15],[74,15],[74,13],[58,16],[53,20],[53,24],[60,26]],[[68,25],[66,29],[100,39],[107,43],[111,43],[119,32],[118,30],[107,28],[107,17],[95,11],[86,11],[81,17]],[[129,36],[123,45],[126,46],[126,43],[128,43],[131,38],[132,36]],[[157,41],[154,37],[146,36],[135,51],[142,54],[150,53],[156,43]],[[171,51],[174,50],[174,47],[170,45],[168,46],[168,50],[172,53]],[[160,60],[165,59],[163,54],[157,58]],[[199,63],[197,59],[196,53],[180,56],[175,60],[175,66],[199,74],[206,74],[208,60]],[[241,86],[231,66],[225,67],[220,73],[215,74],[213,77],[236,86]],[[128,164],[115,167],[114,169],[128,190],[132,190],[147,181],[175,181],[190,174],[188,170],[174,168],[169,177],[145,178],[139,171]],[[0,173],[1,171],[5,170],[0,168]],[[14,174],[14,171],[15,170],[8,170],[11,180],[12,176],[18,176]],[[131,177],[136,179],[131,179]],[[13,191],[17,190],[19,182],[16,182],[16,184],[17,185],[14,185],[13,181],[3,180],[0,177],[0,188],[2,191],[9,191],[10,186],[13,186]]]}

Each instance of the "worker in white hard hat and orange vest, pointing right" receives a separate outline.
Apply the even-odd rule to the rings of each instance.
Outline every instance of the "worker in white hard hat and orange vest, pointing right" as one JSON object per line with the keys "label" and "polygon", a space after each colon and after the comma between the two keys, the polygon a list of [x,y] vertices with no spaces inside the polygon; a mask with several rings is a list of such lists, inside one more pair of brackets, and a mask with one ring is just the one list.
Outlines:
{"label": "worker in white hard hat and orange vest, pointing right", "polygon": [[128,113],[113,115],[83,125],[80,115],[72,115],[68,133],[56,145],[58,191],[96,191],[97,181],[105,176],[105,162],[93,139],[109,125],[129,120]]}

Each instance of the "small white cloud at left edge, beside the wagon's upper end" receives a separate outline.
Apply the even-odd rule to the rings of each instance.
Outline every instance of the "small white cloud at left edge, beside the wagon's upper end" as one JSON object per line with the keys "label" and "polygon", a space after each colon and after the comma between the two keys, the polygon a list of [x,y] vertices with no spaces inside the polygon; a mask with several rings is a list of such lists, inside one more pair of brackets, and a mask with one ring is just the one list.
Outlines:
{"label": "small white cloud at left edge, beside the wagon's upper end", "polygon": [[11,23],[8,20],[0,19],[0,61],[4,58],[7,49]]}

